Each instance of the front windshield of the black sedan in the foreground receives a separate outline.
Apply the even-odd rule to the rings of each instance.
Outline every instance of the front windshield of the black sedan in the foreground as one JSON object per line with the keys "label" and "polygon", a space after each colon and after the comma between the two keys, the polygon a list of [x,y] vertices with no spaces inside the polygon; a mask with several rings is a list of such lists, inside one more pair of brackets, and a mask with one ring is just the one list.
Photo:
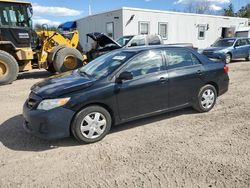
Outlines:
{"label": "front windshield of the black sedan in the foreground", "polygon": [[89,77],[99,79],[111,74],[133,55],[135,55],[135,52],[110,52],[91,61],[83,68],[79,69],[79,72]]}

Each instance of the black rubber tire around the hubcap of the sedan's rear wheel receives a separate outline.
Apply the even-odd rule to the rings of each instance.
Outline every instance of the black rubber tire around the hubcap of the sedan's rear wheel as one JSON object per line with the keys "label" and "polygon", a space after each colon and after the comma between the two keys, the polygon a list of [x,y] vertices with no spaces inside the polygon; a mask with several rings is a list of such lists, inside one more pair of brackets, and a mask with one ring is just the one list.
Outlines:
{"label": "black rubber tire around the hubcap of the sedan's rear wheel", "polygon": [[[203,94],[206,94],[207,91],[212,91],[213,94],[214,94],[214,99],[210,99],[213,101],[213,103],[210,105],[208,105],[207,107],[204,107],[203,104],[202,104],[202,101],[204,101],[204,97],[203,97]],[[197,98],[195,99],[195,102],[194,102],[194,105],[193,105],[193,108],[195,110],[197,110],[198,112],[209,112],[210,110],[213,109],[214,105],[216,104],[216,99],[217,99],[217,91],[215,89],[214,86],[208,84],[208,85],[205,85],[204,87],[202,87],[198,93],[198,96]]]}

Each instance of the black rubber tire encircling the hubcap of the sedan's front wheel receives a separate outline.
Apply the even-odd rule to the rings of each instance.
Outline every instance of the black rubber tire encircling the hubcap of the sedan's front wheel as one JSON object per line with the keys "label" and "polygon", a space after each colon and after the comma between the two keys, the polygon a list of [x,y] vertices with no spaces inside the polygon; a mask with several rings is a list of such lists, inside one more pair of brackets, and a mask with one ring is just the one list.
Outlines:
{"label": "black rubber tire encircling the hubcap of the sedan's front wheel", "polygon": [[[106,120],[106,126],[103,127],[103,133],[96,138],[88,138],[86,135],[84,135],[86,133],[81,131],[82,123],[85,123],[84,119],[91,113],[100,113]],[[95,116],[93,118],[95,118]],[[108,134],[111,124],[112,119],[106,109],[100,106],[89,106],[77,113],[71,125],[71,132],[80,143],[90,144],[102,140]],[[86,130],[86,132],[88,132],[88,130]],[[97,132],[94,133],[97,134]]]}

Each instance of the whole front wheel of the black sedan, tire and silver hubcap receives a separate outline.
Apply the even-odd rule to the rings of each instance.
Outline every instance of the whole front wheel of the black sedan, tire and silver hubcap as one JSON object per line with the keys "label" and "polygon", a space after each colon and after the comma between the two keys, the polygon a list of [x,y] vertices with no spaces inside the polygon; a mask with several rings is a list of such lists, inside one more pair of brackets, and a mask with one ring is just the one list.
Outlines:
{"label": "whole front wheel of the black sedan, tire and silver hubcap", "polygon": [[94,143],[103,139],[111,128],[109,112],[100,106],[89,106],[75,117],[71,132],[82,143]]}

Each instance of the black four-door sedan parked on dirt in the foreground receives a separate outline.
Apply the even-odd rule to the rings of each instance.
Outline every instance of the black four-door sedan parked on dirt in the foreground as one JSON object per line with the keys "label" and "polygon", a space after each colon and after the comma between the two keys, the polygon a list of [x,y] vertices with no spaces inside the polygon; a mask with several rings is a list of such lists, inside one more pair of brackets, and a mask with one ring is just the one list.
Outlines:
{"label": "black four-door sedan parked on dirt in the foreground", "polygon": [[72,134],[93,143],[127,121],[185,107],[208,112],[228,85],[224,63],[190,48],[116,50],[35,84],[23,107],[24,128],[41,138]]}

